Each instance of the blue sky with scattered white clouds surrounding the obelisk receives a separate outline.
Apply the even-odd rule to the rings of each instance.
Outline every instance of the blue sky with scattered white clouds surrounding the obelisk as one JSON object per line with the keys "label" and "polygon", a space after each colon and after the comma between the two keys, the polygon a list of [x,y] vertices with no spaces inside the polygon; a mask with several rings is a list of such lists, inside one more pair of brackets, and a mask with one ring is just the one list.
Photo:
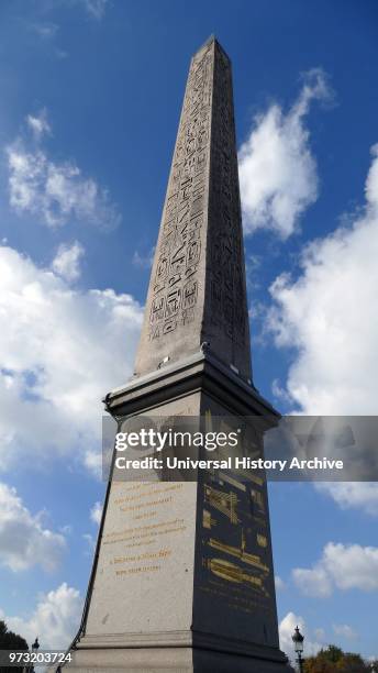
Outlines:
{"label": "blue sky with scattered white clouds surrounding the obelisk", "polygon": [[[281,411],[377,411],[378,9],[40,0],[0,19],[0,610],[63,647],[103,496],[98,400],[132,371],[211,33],[233,62],[255,385]],[[378,657],[376,485],[275,484],[270,511],[282,647],[298,620],[308,651]]]}

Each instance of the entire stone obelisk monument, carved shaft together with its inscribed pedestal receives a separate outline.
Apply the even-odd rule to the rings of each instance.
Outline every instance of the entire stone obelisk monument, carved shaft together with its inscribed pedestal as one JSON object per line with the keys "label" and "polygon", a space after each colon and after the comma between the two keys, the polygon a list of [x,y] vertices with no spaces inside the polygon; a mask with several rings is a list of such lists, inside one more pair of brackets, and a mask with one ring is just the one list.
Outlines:
{"label": "entire stone obelisk monument, carved shaft together with its inscribed pedestal", "polygon": [[[105,404],[119,423],[278,417],[252,384],[231,63],[213,37],[190,65],[135,373]],[[110,478],[73,654],[82,671],[288,671],[265,478]]]}

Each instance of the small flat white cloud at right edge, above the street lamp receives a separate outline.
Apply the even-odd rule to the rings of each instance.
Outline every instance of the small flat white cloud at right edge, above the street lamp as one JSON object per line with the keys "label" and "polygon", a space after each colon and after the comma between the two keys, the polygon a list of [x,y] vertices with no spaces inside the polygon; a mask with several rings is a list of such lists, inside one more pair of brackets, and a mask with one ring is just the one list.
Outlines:
{"label": "small flat white cloud at right edge, above the street lamp", "polygon": [[378,548],[329,542],[312,569],[294,569],[292,577],[307,596],[324,598],[340,591],[378,591]]}

